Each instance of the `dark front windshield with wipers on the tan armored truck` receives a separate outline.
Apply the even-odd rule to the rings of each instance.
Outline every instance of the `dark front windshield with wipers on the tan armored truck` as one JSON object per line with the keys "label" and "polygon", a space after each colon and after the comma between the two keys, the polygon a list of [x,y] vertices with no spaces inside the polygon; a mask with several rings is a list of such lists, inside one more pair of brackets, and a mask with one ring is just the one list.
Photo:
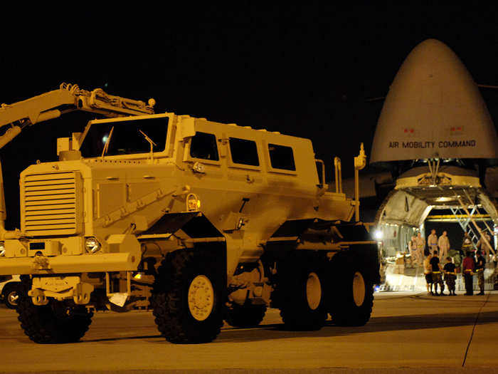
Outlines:
{"label": "dark front windshield with wipers on the tan armored truck", "polygon": [[80,147],[81,155],[100,157],[111,130],[112,137],[105,151],[107,156],[149,153],[150,143],[140,131],[155,143],[154,152],[161,152],[166,147],[168,117],[93,123]]}

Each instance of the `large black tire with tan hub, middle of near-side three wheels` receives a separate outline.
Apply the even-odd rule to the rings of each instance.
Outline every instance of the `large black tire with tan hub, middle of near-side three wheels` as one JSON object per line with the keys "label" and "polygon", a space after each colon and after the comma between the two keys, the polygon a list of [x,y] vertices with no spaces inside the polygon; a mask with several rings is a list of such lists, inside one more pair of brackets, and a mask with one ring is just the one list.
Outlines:
{"label": "large black tire with tan hub, middle of near-side three wheels", "polygon": [[324,259],[296,254],[277,264],[277,298],[285,328],[314,331],[324,326]]}

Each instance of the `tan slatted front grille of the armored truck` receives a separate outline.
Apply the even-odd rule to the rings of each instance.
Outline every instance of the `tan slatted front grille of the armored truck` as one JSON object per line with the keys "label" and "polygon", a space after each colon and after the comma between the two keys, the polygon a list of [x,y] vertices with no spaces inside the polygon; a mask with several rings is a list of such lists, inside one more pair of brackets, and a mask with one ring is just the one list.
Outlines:
{"label": "tan slatted front grille of the armored truck", "polygon": [[21,229],[29,236],[77,234],[79,175],[26,175],[21,181]]}

